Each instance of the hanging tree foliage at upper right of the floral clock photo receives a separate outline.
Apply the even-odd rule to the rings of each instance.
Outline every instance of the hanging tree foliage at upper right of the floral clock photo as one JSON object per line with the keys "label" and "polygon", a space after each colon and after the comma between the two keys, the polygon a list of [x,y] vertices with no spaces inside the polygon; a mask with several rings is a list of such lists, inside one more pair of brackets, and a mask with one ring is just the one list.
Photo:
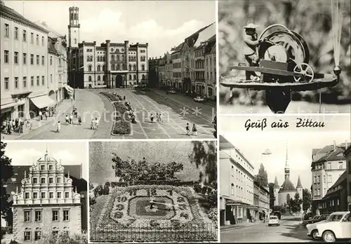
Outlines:
{"label": "hanging tree foliage at upper right of the floral clock photo", "polygon": [[203,168],[204,172],[199,173],[201,180],[206,184],[217,181],[217,149],[213,141],[200,142],[192,141],[192,153],[189,159],[195,163],[197,168]]}

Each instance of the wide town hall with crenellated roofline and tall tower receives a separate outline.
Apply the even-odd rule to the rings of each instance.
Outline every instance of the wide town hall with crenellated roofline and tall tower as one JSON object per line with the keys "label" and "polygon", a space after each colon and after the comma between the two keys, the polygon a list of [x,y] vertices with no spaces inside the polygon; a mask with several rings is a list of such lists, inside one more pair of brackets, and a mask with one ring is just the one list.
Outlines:
{"label": "wide town hall with crenellated roofline and tall tower", "polygon": [[[79,8],[69,8],[70,86],[117,88],[148,83],[148,43],[79,42]],[[73,19],[72,19],[73,18]],[[76,45],[77,43],[77,45]]]}

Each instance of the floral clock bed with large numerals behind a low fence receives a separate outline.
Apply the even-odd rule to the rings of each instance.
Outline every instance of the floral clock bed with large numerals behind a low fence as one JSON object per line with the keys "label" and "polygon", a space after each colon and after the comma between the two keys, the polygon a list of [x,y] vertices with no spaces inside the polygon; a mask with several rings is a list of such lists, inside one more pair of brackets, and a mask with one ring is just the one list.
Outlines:
{"label": "floral clock bed with large numerals behind a low fence", "polygon": [[131,239],[138,233],[143,236],[140,240],[215,240],[216,233],[208,226],[215,228],[206,222],[190,187],[135,185],[114,189],[91,227],[91,238],[138,240]]}

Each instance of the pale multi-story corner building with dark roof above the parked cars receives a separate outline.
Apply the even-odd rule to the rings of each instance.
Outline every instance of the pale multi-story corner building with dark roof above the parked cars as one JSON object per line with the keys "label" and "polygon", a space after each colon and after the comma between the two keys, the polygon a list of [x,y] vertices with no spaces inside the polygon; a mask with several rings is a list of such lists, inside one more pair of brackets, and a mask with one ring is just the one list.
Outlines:
{"label": "pale multi-story corner building with dark roof above the parked cars", "polygon": [[346,170],[345,145],[336,146],[334,142],[322,149],[312,149],[312,210],[317,215],[323,209],[322,199],[327,191]]}

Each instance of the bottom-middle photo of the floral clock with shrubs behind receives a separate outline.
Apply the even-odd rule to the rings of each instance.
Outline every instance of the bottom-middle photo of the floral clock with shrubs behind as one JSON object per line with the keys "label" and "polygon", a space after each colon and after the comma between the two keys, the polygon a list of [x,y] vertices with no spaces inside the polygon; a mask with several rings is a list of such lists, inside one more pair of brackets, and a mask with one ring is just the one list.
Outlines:
{"label": "bottom-middle photo of the floral clock with shrubs behind", "polygon": [[217,142],[89,142],[89,241],[218,241]]}

